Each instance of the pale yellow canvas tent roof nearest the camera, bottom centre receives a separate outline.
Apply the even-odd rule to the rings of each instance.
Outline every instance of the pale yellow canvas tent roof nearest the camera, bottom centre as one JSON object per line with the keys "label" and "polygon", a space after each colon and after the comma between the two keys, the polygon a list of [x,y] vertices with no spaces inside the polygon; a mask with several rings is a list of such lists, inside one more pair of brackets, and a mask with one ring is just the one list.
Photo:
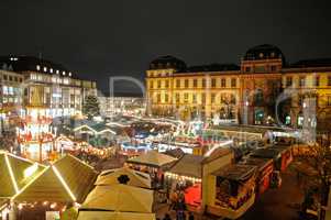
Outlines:
{"label": "pale yellow canvas tent roof nearest the camera, bottom centre", "polygon": [[153,213],[154,194],[152,190],[117,184],[97,186],[79,208],[79,220],[96,219],[103,212],[103,219],[155,219]]}

